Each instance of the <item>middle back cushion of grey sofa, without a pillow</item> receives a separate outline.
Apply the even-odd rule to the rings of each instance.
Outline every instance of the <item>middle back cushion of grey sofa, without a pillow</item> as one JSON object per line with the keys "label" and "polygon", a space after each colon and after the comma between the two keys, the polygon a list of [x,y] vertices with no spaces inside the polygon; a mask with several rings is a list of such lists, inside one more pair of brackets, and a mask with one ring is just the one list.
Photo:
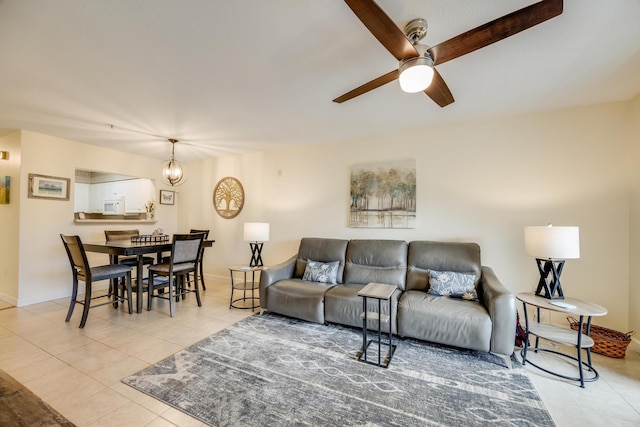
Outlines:
{"label": "middle back cushion of grey sofa, without a pillow", "polygon": [[342,283],[386,283],[404,290],[406,274],[407,242],[404,240],[349,241]]}

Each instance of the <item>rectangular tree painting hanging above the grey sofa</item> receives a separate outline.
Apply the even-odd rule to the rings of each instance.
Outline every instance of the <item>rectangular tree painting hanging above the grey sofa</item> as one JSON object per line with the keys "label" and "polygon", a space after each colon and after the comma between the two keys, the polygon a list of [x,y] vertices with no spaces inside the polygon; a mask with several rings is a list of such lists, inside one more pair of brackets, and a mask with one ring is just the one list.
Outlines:
{"label": "rectangular tree painting hanging above the grey sofa", "polygon": [[349,227],[415,228],[416,161],[351,167]]}

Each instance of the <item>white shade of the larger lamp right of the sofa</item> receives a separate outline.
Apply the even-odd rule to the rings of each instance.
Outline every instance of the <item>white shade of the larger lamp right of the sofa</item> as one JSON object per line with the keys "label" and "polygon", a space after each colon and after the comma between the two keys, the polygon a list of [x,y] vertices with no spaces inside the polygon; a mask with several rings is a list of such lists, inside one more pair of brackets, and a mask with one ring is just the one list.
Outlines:
{"label": "white shade of the larger lamp right of the sofa", "polygon": [[580,229],[552,225],[525,227],[524,245],[527,255],[536,258],[580,258]]}

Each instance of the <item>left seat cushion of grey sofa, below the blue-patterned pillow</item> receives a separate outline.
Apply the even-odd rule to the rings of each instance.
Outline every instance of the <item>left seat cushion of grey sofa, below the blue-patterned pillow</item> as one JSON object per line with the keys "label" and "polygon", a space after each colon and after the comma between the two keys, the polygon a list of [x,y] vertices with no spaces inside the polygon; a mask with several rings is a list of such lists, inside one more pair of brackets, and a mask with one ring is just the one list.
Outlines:
{"label": "left seat cushion of grey sofa, below the blue-patterned pillow", "polygon": [[324,294],[332,285],[280,280],[269,286],[267,310],[309,322],[324,323]]}

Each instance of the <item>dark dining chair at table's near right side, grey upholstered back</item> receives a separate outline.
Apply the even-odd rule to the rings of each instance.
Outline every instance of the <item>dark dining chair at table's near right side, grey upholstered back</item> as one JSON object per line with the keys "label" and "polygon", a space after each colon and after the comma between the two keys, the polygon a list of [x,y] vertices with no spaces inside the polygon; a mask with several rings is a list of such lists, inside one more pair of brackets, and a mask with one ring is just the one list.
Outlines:
{"label": "dark dining chair at table's near right side, grey upholstered back", "polygon": [[[198,287],[198,257],[202,250],[204,233],[174,234],[169,262],[149,266],[149,292],[147,294],[147,310],[151,310],[153,298],[169,300],[169,313],[175,316],[175,303],[180,296],[190,292],[196,294],[198,307],[202,306]],[[193,289],[186,285],[187,275],[195,276]],[[164,279],[164,280],[163,280]],[[156,293],[160,289],[169,288],[169,292]]]}

